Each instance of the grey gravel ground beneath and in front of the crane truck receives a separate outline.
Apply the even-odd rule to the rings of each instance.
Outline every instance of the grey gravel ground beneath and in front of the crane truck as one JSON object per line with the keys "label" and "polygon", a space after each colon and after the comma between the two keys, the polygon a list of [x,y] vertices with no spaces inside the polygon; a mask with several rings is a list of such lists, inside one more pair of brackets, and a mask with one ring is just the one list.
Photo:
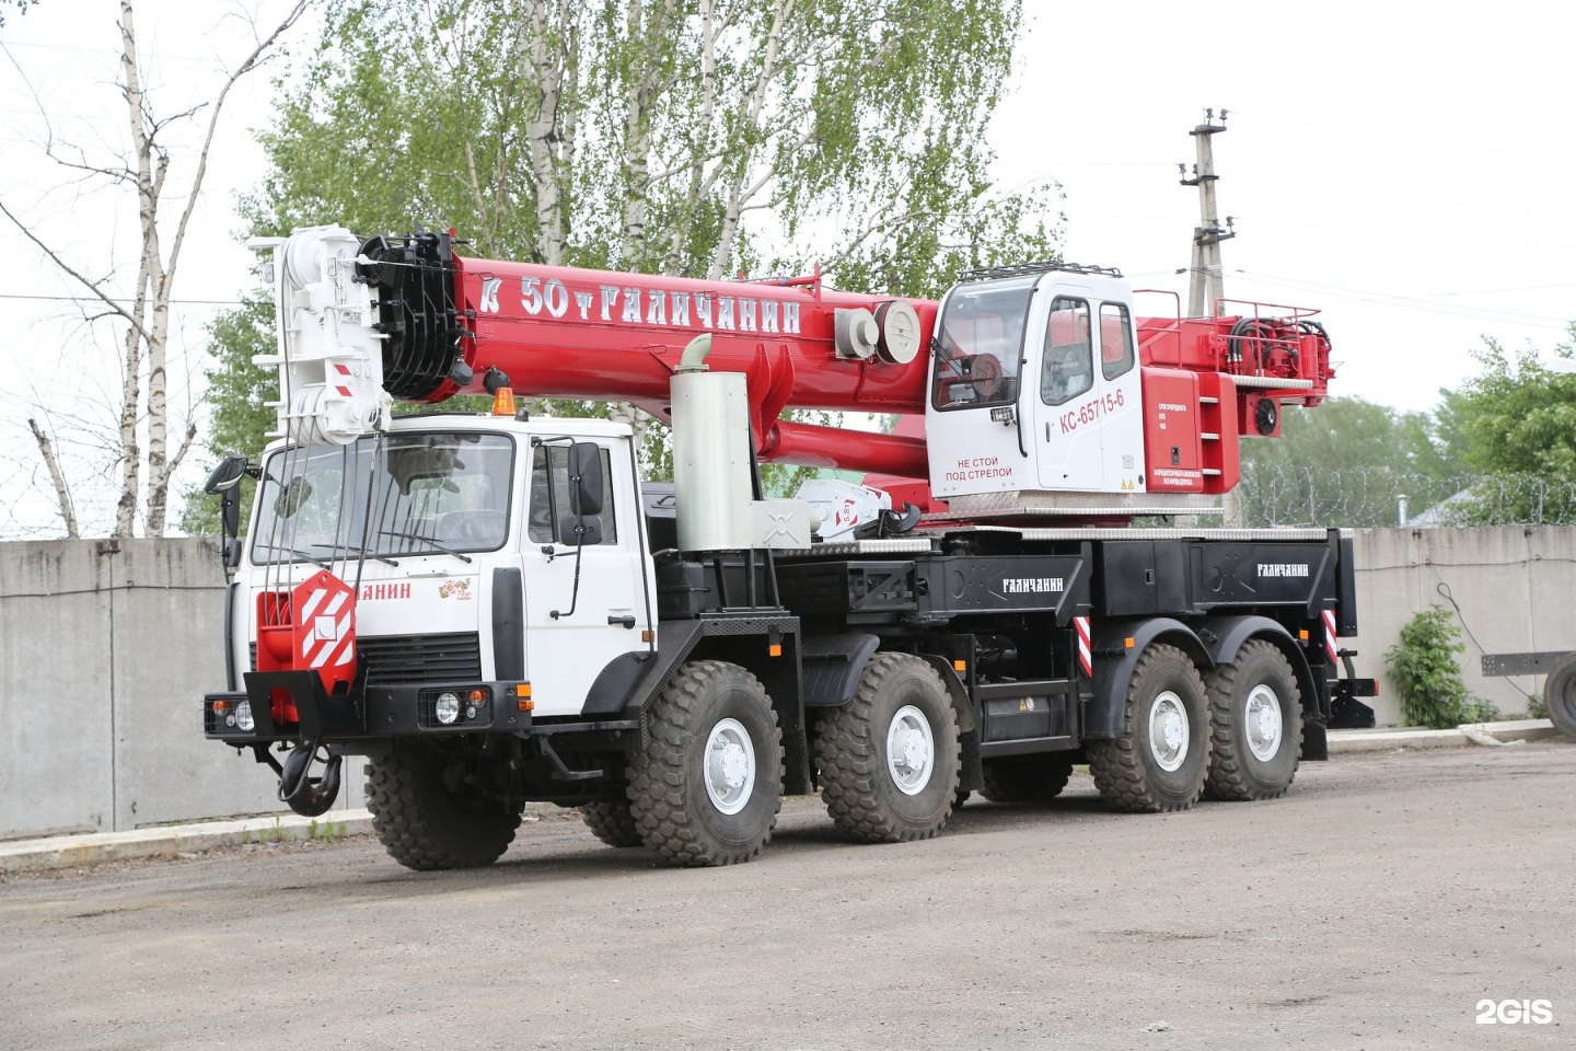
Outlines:
{"label": "grey gravel ground beneath and in front of the crane truck", "polygon": [[[574,815],[493,868],[370,838],[0,881],[5,1048],[1571,1048],[1576,742],[1307,764],[1267,804],[971,802],[734,868]],[[1480,1001],[1552,1021],[1480,1024]]]}

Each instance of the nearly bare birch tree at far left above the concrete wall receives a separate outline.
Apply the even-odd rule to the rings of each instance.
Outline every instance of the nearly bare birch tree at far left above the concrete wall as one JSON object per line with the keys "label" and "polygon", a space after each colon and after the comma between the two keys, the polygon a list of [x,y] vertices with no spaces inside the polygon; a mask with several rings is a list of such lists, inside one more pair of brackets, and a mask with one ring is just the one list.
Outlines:
{"label": "nearly bare birch tree at far left above the concrete wall", "polygon": [[[0,200],[0,216],[43,255],[44,260],[98,306],[88,321],[109,320],[120,331],[118,411],[115,457],[118,500],[112,536],[129,537],[137,526],[139,507],[147,536],[162,536],[169,506],[170,481],[197,436],[195,419],[186,419],[170,430],[169,405],[169,342],[170,303],[180,273],[181,251],[191,232],[192,214],[208,175],[208,159],[224,106],[236,82],[252,72],[306,9],[298,3],[276,25],[255,33],[254,46],[225,74],[211,102],[159,115],[145,87],[148,69],[137,49],[132,0],[120,0],[118,88],[125,102],[128,132],[123,154],[106,156],[101,150],[65,143],[52,134],[44,151],[79,184],[96,184],[125,195],[137,214],[137,257],[129,284],[117,274],[113,260],[88,258],[80,252],[50,243],[27,210]],[[255,27],[254,27],[255,28]],[[43,115],[47,118],[49,115]],[[175,154],[165,145],[175,129],[199,123],[200,145],[189,161],[191,176],[181,188],[170,184]],[[107,249],[106,249],[107,251]],[[109,274],[109,276],[102,276]],[[30,421],[44,459],[61,517],[74,534],[76,509],[60,462],[58,444],[46,430]]]}

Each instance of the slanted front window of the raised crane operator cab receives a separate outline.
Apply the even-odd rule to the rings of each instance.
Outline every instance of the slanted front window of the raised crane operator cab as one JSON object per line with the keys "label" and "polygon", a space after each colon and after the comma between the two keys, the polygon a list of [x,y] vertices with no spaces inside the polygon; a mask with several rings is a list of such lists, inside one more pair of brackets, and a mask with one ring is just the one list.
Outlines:
{"label": "slanted front window of the raised crane operator cab", "polygon": [[958,285],[931,344],[931,402],[939,410],[1018,400],[1018,366],[1037,277]]}

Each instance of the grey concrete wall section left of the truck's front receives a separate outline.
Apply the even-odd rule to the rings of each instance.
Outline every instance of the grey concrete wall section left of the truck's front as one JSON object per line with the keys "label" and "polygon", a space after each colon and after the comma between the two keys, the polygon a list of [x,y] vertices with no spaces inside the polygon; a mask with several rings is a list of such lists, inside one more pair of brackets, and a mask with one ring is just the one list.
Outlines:
{"label": "grey concrete wall section left of the truck's front", "polygon": [[0,544],[0,838],[282,808],[251,752],[202,736],[222,613],[206,540]]}

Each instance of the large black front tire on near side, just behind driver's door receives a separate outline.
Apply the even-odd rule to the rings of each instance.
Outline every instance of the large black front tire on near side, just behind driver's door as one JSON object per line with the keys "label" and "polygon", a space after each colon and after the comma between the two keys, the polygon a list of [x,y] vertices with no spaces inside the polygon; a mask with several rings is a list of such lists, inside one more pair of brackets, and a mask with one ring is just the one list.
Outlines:
{"label": "large black front tire on near side, just behind driver's door", "polygon": [[[641,841],[671,865],[733,865],[761,852],[782,807],[783,737],[760,681],[722,660],[679,668],[648,712],[651,744],[629,758],[629,808]],[[753,780],[725,813],[708,791],[708,741],[720,730]],[[742,755],[739,756],[742,758]],[[731,804],[730,804],[731,805]]]}

